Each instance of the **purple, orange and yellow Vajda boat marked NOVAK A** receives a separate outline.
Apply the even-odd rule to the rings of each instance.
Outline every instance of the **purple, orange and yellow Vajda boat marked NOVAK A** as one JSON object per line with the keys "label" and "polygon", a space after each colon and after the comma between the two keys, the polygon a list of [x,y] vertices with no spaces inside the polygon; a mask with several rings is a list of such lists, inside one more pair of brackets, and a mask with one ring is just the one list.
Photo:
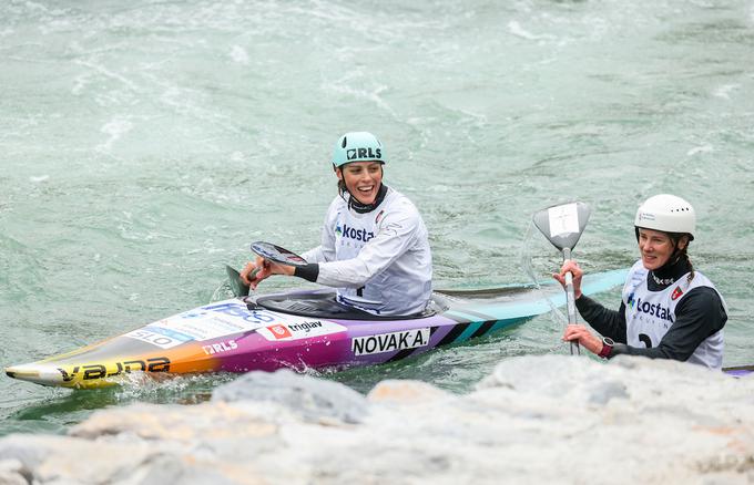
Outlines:
{"label": "purple, orange and yellow Vajda boat marked NOVAK A", "polygon": [[[585,276],[582,292],[622,285],[625,269]],[[435,291],[427,310],[377,317],[330,289],[216,301],[72,352],[13,365],[14,379],[63,388],[122,383],[128,374],[344,369],[394,362],[466,342],[566,305],[559,285]]]}

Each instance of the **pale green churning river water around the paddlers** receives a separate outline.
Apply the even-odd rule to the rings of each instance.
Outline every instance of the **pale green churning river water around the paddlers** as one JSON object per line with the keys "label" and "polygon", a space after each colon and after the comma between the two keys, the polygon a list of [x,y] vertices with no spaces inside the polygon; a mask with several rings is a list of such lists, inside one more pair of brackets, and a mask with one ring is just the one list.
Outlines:
{"label": "pale green churning river water around the paddlers", "polygon": [[[2,367],[224,296],[252,240],[316,245],[351,130],[383,140],[386,183],[421,210],[436,288],[548,278],[559,255],[531,215],[571,199],[593,209],[584,268],[628,267],[638,203],[687,198],[692,259],[730,309],[724,364],[754,363],[751,0],[6,1],[0,66]],[[463,394],[506,359],[567,353],[561,326],[323,376]],[[0,434],[197,403],[233,379],[2,379]]]}

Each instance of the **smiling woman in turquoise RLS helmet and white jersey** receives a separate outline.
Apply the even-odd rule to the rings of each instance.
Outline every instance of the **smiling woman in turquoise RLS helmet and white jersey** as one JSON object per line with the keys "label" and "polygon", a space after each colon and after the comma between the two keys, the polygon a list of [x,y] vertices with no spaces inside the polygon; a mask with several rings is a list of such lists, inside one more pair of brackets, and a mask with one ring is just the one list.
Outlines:
{"label": "smiling woman in turquoise RLS helmet and white jersey", "polygon": [[[420,313],[431,293],[432,258],[416,206],[383,184],[385,147],[366,132],[343,135],[333,153],[338,195],[327,209],[322,244],[303,267],[257,257],[241,272],[253,288],[271,275],[337,288],[338,301],[374,314]],[[248,276],[259,268],[251,280]]]}

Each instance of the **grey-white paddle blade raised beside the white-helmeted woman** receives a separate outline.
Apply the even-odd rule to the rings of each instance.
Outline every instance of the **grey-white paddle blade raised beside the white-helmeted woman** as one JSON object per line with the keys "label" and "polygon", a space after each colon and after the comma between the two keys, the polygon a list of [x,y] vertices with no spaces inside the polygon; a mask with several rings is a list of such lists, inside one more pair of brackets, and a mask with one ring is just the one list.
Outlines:
{"label": "grey-white paddle blade raised beside the white-helmeted woman", "polygon": [[548,207],[534,214],[534,226],[561,251],[573,249],[587,227],[591,210],[584,203],[573,202]]}

